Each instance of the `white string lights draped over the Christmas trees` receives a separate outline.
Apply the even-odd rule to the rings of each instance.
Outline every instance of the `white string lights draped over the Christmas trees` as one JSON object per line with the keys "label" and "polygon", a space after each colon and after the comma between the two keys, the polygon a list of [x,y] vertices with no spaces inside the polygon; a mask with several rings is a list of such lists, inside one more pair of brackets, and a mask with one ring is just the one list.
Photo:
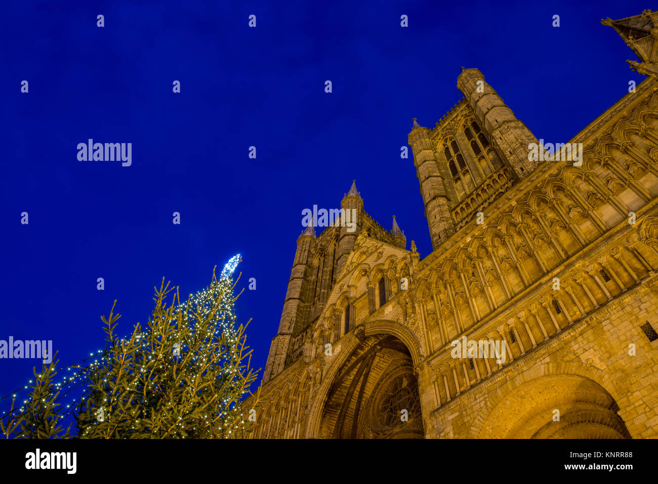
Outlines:
{"label": "white string lights draped over the Christmas trees", "polygon": [[[133,368],[139,368],[139,372],[136,375],[136,378],[133,381],[130,381],[125,388],[125,391],[128,392],[140,392],[141,397],[136,398],[134,395],[128,398],[130,404],[141,404],[142,407],[145,407],[148,403],[141,402],[139,398],[143,398],[144,395],[147,395],[147,399],[155,399],[155,396],[159,395],[161,392],[161,385],[164,383],[158,381],[157,378],[161,375],[155,374],[156,370],[163,370],[163,375],[168,374],[172,368],[176,368],[179,377],[182,375],[181,381],[184,384],[185,381],[199,381],[199,378],[207,374],[212,374],[210,372],[216,372],[221,381],[213,382],[213,385],[206,385],[205,387],[200,387],[199,390],[195,389],[195,385],[189,385],[188,390],[184,395],[190,395],[190,399],[194,398],[196,395],[198,399],[203,397],[204,399],[216,400],[217,402],[217,412],[216,414],[205,414],[201,420],[197,420],[199,423],[203,423],[201,427],[192,423],[191,429],[193,431],[203,429],[204,426],[208,427],[212,425],[213,422],[217,422],[218,419],[221,422],[221,427],[228,435],[233,435],[234,431],[243,429],[244,420],[242,420],[242,414],[240,416],[236,415],[236,410],[239,410],[241,396],[247,391],[244,389],[245,381],[236,380],[236,377],[239,374],[239,369],[243,368],[240,366],[240,351],[236,349],[236,343],[239,343],[239,339],[242,336],[241,331],[238,331],[235,325],[236,316],[234,314],[234,297],[233,289],[234,283],[232,281],[232,274],[234,274],[238,264],[241,261],[240,254],[232,257],[228,263],[222,269],[220,279],[216,279],[213,275],[213,282],[211,285],[205,289],[190,295],[190,298],[186,303],[180,303],[176,308],[170,308],[172,318],[168,319],[168,323],[171,327],[176,329],[172,331],[172,339],[163,339],[163,334],[153,333],[151,331],[136,331],[133,335],[134,340],[131,338],[124,338],[122,340],[116,339],[117,343],[108,351],[98,350],[96,353],[89,353],[89,357],[85,358],[78,364],[72,364],[57,368],[57,370],[62,370],[66,368],[66,372],[73,372],[72,374],[65,374],[62,381],[55,383],[53,385],[55,392],[59,392],[63,389],[66,389],[62,395],[54,400],[57,402],[64,397],[70,391],[83,383],[87,384],[87,388],[82,395],[74,397],[72,402],[66,404],[66,410],[61,415],[55,416],[55,421],[58,419],[61,421],[64,417],[70,414],[73,408],[76,405],[82,405],[88,410],[86,415],[89,416],[89,410],[95,410],[93,406],[93,400],[89,397],[89,394],[93,395],[93,391],[97,388],[93,387],[90,382],[90,378],[93,375],[103,374],[103,371],[107,371],[110,368],[114,368],[113,364],[116,364],[114,359],[119,358],[118,355],[126,354],[126,351],[130,351],[130,344],[126,347],[126,343],[134,341],[132,345],[132,354],[133,358],[141,358],[139,361],[134,360],[132,364],[135,366]],[[163,306],[164,308],[164,306]],[[154,316],[163,316],[163,314],[154,314]],[[205,328],[205,332],[204,332]],[[195,339],[196,338],[196,339]],[[164,340],[164,341],[163,341]],[[172,356],[172,353],[169,351],[163,352],[164,347],[170,347],[173,343],[180,342],[180,354],[177,356]],[[120,343],[119,343],[120,341]],[[180,366],[183,362],[184,355],[191,356],[191,348],[184,343],[190,343],[195,347],[194,355],[189,358],[188,365],[186,367]],[[120,345],[120,348],[119,348]],[[222,345],[224,346],[222,349]],[[119,351],[120,350],[120,351]],[[141,354],[140,351],[147,351],[149,354]],[[143,363],[145,356],[148,356],[148,360],[153,362],[153,355],[157,356],[157,366],[151,370],[150,375],[145,375],[147,368]],[[93,362],[89,362],[88,366],[83,366],[90,358],[96,356]],[[222,368],[223,366],[228,366],[228,368]],[[107,374],[106,374],[107,375]],[[224,375],[222,377],[222,375]],[[247,374],[247,385],[253,378],[249,380],[249,375],[252,375],[251,370]],[[41,375],[39,375],[39,378]],[[30,380],[32,383],[32,380]],[[103,384],[107,384],[107,377],[103,377]],[[206,391],[210,387],[211,393]],[[28,385],[25,385],[23,389],[27,389]],[[114,389],[116,391],[116,388]],[[219,392],[213,393],[213,392]],[[211,395],[212,394],[212,395]],[[9,396],[9,395],[7,395]],[[16,395],[14,394],[14,397]],[[122,410],[116,408],[115,395],[111,395],[114,398],[113,402],[115,406],[113,407],[110,404],[109,414],[124,413]],[[7,398],[7,397],[5,397]],[[126,397],[127,398],[127,397]],[[0,401],[3,399],[0,399]],[[85,400],[87,400],[85,402]],[[125,400],[125,398],[124,398]],[[43,400],[45,401],[45,400]],[[107,404],[107,398],[103,399],[103,402]],[[28,403],[28,400],[24,400],[24,405],[21,408],[15,410],[16,414],[24,412],[26,407],[25,404]],[[203,403],[203,402],[202,402]],[[186,400],[182,402],[184,408],[179,408],[182,412],[182,416],[178,416],[178,424],[176,427],[180,427],[180,432],[184,432],[184,417],[189,418],[193,410],[193,401]],[[80,408],[83,408],[83,407]],[[168,402],[169,407],[174,407],[172,402]],[[207,403],[205,403],[207,406]],[[212,407],[211,407],[212,408]],[[206,408],[209,410],[209,408]],[[141,408],[141,413],[145,415],[147,408]],[[5,414],[6,416],[7,414]],[[4,417],[4,416],[3,416]],[[194,422],[192,419],[191,422]],[[134,424],[139,423],[139,418],[134,420]],[[88,435],[89,429],[99,425],[99,422],[93,421],[89,422],[85,429],[83,435]],[[131,425],[132,429],[138,429],[139,425]],[[188,425],[188,428],[190,426]],[[170,436],[186,437],[184,433],[174,433]],[[224,434],[226,435],[226,434]],[[212,437],[212,435],[211,435]]]}

